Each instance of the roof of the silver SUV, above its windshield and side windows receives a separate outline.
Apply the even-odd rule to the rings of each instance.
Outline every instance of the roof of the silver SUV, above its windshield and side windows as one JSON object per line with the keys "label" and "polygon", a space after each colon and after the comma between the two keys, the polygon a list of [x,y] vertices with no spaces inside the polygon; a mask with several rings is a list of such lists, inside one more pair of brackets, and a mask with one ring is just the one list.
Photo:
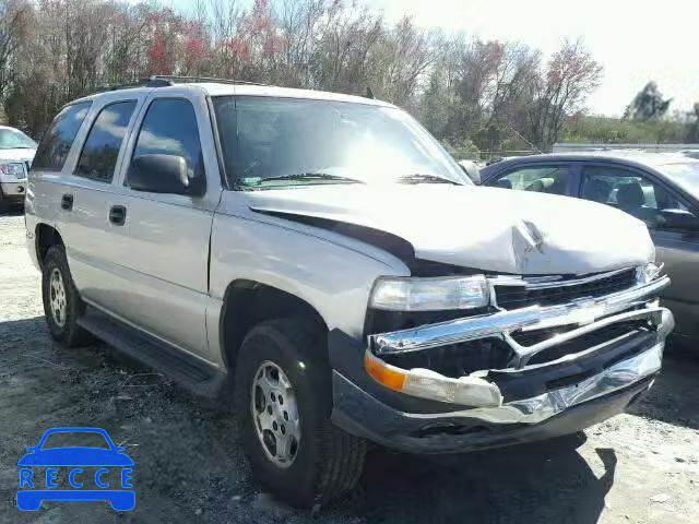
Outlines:
{"label": "roof of the silver SUV, above its windshield and side windows", "polygon": [[[153,90],[157,90],[158,93],[162,91],[166,93],[168,90],[177,91],[181,93],[182,90],[192,90],[192,91],[203,91],[209,96],[226,96],[226,95],[236,95],[236,96],[273,96],[280,98],[306,98],[306,99],[315,99],[315,100],[331,100],[331,102],[348,102],[354,104],[365,104],[365,105],[374,105],[374,106],[382,106],[382,107],[395,107],[392,104],[387,102],[377,100],[374,98],[365,98],[363,96],[354,96],[354,95],[344,95],[341,93],[331,93],[327,91],[315,91],[315,90],[296,90],[291,87],[277,87],[274,85],[258,85],[258,84],[235,84],[233,82],[227,83],[218,83],[218,82],[187,82],[187,83],[176,83],[171,86],[162,86],[162,87],[153,87],[153,86],[143,86],[143,87],[129,87],[119,90],[118,93],[128,96],[129,94],[133,95],[134,93],[145,93],[151,92]],[[73,102],[83,102],[83,100],[92,100],[95,98],[99,98],[106,94],[114,94],[115,91],[105,91],[100,93],[95,93],[94,95],[85,96],[79,98]]]}

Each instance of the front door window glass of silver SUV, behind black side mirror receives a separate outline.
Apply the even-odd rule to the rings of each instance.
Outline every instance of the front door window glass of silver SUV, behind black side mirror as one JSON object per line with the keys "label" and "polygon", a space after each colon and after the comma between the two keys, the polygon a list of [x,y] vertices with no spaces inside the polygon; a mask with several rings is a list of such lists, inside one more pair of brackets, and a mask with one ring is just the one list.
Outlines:
{"label": "front door window glass of silver SUV, behind black side mirror", "polygon": [[187,160],[190,178],[204,175],[197,115],[189,100],[156,98],[151,103],[133,148],[133,158],[153,154],[181,156]]}

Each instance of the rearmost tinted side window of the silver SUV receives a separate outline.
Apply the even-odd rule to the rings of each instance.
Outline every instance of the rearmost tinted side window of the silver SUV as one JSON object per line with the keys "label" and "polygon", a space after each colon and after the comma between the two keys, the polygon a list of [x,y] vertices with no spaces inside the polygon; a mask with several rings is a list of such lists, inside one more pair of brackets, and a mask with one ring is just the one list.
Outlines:
{"label": "rearmost tinted side window of the silver SUV", "polygon": [[32,163],[35,169],[61,170],[78,130],[85,120],[92,102],[81,102],[66,106],[59,112],[39,142]]}

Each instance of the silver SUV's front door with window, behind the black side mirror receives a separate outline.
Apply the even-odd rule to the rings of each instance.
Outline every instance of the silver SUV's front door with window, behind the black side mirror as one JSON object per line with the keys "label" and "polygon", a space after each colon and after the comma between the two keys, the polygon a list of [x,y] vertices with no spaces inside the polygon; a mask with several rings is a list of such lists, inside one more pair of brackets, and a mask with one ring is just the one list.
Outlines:
{"label": "silver SUV's front door with window, behind the black side mirror", "polygon": [[[208,102],[192,88],[153,90],[133,129],[111,207],[111,227],[123,242],[114,254],[110,308],[150,334],[213,360],[205,330],[209,240],[222,184]],[[128,166],[146,154],[182,156],[190,177],[205,177],[205,194],[132,189]]]}

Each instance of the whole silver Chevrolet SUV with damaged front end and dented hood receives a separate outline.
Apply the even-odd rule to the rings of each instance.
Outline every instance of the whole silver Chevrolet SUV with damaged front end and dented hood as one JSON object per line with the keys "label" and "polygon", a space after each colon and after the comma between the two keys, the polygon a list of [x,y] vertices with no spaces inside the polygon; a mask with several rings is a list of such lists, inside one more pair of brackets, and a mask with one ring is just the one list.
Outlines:
{"label": "whole silver Chevrolet SUV with damaged front end and dented hood", "polygon": [[621,413],[673,327],[645,226],[463,181],[371,98],[158,76],[78,99],[28,177],[50,334],[235,406],[300,505],[350,490],[367,441],[464,452]]}

